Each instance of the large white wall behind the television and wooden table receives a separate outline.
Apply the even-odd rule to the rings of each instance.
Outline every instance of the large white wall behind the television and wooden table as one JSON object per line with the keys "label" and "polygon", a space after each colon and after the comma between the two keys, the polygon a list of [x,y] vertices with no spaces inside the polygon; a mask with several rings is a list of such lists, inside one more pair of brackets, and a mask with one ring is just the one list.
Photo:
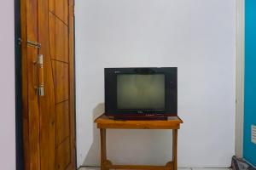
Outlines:
{"label": "large white wall behind the television and wooden table", "polygon": [[[104,67],[177,66],[179,167],[228,167],[235,151],[236,1],[77,0],[78,165],[99,165]],[[171,134],[109,130],[115,163],[164,164]],[[170,158],[170,159],[169,159]]]}

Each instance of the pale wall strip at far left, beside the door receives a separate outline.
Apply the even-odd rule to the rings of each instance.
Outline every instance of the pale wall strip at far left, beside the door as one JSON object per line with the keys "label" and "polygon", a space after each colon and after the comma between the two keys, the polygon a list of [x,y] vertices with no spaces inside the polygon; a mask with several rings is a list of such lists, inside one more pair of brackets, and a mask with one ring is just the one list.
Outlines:
{"label": "pale wall strip at far left, beside the door", "polygon": [[14,1],[0,5],[0,165],[15,170],[15,12]]}

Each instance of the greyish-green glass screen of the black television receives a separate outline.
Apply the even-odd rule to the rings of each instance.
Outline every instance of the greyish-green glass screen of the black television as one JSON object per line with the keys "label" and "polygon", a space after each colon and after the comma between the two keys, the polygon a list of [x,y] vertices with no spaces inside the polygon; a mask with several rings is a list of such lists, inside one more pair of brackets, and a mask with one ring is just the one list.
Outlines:
{"label": "greyish-green glass screen of the black television", "polygon": [[165,109],[165,75],[119,74],[118,109]]}

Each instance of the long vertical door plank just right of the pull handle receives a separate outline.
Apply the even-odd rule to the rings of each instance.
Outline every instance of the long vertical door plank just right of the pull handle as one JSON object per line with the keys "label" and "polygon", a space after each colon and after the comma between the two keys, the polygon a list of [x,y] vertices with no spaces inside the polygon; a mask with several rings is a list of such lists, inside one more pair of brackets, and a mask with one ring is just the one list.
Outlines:
{"label": "long vertical door plank just right of the pull handle", "polygon": [[48,1],[38,0],[39,54],[44,55],[44,96],[39,97],[41,170],[55,169],[55,87],[49,47]]}

